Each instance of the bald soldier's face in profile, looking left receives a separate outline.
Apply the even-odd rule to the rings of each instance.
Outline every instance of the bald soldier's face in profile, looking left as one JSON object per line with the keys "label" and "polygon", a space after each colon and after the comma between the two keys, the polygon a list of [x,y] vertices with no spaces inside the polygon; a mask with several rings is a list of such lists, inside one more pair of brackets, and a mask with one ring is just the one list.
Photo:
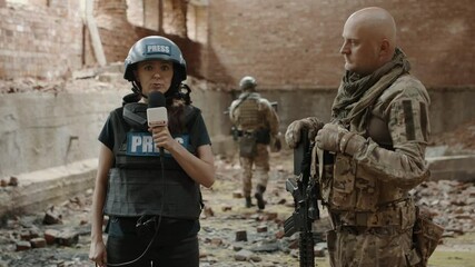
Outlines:
{"label": "bald soldier's face in profile, looking left", "polygon": [[345,58],[346,70],[367,76],[379,67],[378,39],[368,26],[348,19],[343,39],[340,53]]}

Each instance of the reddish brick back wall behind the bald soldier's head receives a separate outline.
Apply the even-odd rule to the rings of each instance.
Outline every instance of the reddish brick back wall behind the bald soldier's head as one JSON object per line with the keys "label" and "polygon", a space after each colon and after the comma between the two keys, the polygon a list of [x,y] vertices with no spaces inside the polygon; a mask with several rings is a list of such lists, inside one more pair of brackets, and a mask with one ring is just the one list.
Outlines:
{"label": "reddish brick back wall behind the bald soldier's head", "polygon": [[265,88],[336,87],[344,22],[368,6],[393,13],[399,44],[426,86],[475,83],[472,0],[210,1],[208,77],[235,87],[245,75]]}

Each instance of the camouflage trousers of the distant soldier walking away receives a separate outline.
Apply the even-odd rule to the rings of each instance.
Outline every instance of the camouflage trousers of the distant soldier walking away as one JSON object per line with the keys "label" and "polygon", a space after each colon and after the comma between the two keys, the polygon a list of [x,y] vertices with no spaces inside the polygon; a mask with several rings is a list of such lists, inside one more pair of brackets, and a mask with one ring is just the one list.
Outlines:
{"label": "camouflage trousers of the distant soldier walking away", "polygon": [[253,190],[253,166],[255,167],[255,177],[257,185],[267,187],[269,180],[269,151],[267,145],[257,144],[257,152],[253,158],[240,157],[240,166],[243,168],[243,194],[245,197],[250,197]]}

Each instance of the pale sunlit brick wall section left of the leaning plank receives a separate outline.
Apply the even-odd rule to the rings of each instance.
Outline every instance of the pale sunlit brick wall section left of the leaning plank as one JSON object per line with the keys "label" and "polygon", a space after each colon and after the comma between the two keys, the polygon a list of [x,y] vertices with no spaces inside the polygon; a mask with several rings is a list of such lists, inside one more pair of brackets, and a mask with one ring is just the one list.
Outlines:
{"label": "pale sunlit brick wall section left of the leaning plank", "polygon": [[76,0],[49,6],[0,1],[0,77],[50,79],[81,66],[79,9]]}

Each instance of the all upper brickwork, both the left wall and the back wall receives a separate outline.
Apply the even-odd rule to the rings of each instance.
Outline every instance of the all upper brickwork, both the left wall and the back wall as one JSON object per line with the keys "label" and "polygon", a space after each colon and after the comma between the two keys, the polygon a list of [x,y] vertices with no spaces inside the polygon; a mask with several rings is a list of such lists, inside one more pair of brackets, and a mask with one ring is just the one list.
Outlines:
{"label": "all upper brickwork, both the left wall and the back wall", "polygon": [[[135,41],[154,33],[127,22],[125,0],[95,2],[108,62],[123,61]],[[369,4],[394,14],[399,44],[413,73],[427,87],[475,83],[472,0],[210,0],[204,17],[208,43],[170,38],[180,43],[184,39],[190,72],[228,87],[245,75],[256,76],[268,89],[336,87],[343,70],[343,24],[353,11]],[[0,77],[49,79],[96,65],[79,10],[76,0],[0,0]],[[172,12],[180,18],[181,10]]]}

